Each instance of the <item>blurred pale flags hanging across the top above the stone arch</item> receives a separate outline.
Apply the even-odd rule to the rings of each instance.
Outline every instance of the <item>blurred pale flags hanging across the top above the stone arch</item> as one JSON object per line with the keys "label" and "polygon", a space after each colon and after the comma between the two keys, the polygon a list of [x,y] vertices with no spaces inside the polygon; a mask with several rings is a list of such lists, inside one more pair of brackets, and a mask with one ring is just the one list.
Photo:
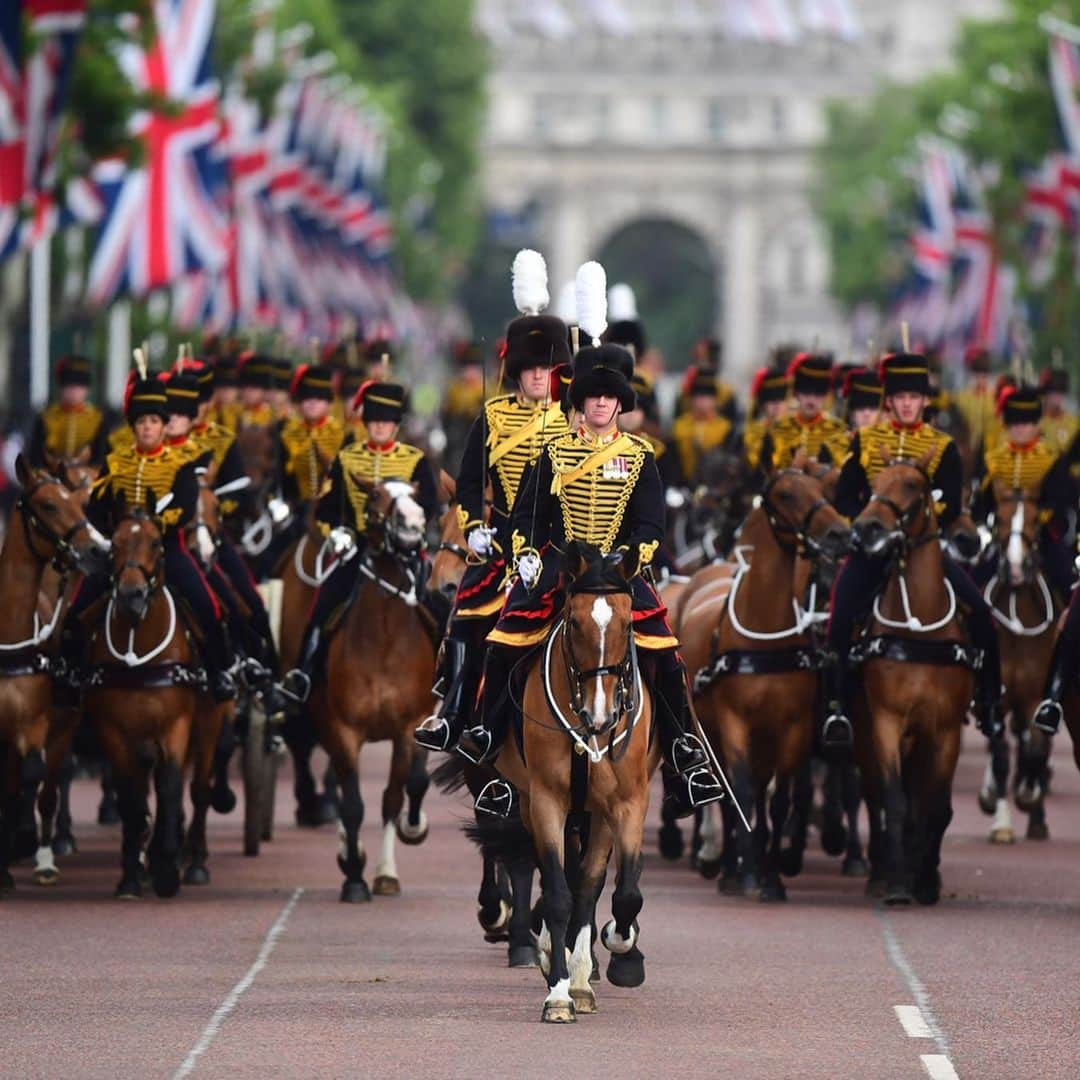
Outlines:
{"label": "blurred pale flags hanging across the top above the stone arch", "polygon": [[[671,0],[664,25],[679,31],[717,30],[732,38],[796,44],[823,35],[852,41],[860,24],[851,0]],[[624,0],[480,0],[476,21],[496,41],[515,32],[562,39],[585,29],[625,37],[638,29]]]}

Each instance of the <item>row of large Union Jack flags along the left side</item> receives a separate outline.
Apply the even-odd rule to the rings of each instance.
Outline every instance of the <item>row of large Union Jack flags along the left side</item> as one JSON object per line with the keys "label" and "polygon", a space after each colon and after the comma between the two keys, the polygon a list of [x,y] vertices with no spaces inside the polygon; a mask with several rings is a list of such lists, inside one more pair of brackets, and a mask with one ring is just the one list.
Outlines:
{"label": "row of large Union Jack flags along the left side", "polygon": [[148,5],[152,44],[130,40],[117,59],[136,91],[167,105],[133,118],[138,164],[95,163],[59,210],[55,137],[85,0],[0,4],[0,256],[77,220],[94,226],[94,307],[168,289],[181,327],[265,327],[302,340],[383,319],[407,334],[419,316],[390,264],[382,114],[343,76],[300,55],[272,57],[288,75],[267,114],[239,83],[222,89],[212,64],[216,4]]}

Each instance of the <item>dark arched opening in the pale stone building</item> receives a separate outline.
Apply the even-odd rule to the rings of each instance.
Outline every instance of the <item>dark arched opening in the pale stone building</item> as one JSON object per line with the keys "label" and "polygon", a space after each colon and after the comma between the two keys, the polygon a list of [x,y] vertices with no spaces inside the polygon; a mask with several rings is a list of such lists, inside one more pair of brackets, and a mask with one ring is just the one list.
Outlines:
{"label": "dark arched opening in the pale stone building", "polygon": [[721,270],[706,238],[670,217],[647,216],[616,228],[594,254],[609,284],[633,287],[667,369],[686,367],[693,343],[720,323]]}

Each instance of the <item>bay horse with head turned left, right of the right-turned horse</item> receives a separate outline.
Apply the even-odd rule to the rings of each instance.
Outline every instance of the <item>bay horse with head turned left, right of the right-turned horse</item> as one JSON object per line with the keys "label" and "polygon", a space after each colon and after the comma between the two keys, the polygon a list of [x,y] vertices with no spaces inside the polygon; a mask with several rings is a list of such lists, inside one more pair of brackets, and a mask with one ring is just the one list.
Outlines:
{"label": "bay horse with head turned left, right of the right-turned horse", "polygon": [[864,692],[852,719],[869,807],[867,891],[890,905],[941,897],[941,846],[973,691],[972,657],[939,543],[931,453],[887,460],[853,524],[863,551],[889,561],[861,646]]}

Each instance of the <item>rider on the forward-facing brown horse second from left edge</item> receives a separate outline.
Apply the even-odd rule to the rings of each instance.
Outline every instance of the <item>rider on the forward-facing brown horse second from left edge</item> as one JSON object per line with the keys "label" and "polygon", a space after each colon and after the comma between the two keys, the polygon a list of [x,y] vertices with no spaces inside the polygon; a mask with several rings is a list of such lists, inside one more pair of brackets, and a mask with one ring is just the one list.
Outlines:
{"label": "rider on the forward-facing brown horse second from left edge", "polygon": [[[87,516],[103,531],[111,532],[124,505],[145,507],[152,495],[161,505],[158,516],[164,535],[165,584],[190,608],[202,637],[201,652],[215,701],[231,701],[235,684],[230,674],[234,654],[222,625],[222,612],[198,562],[184,539],[184,526],[195,513],[199,480],[198,457],[165,442],[170,404],[165,387],[145,374],[131,387],[124,415],[132,427],[132,446],[116,450],[106,460],[105,471],[94,482]],[[69,666],[81,669],[85,638],[82,617],[108,589],[104,576],[83,579],[65,620],[64,657]]]}

